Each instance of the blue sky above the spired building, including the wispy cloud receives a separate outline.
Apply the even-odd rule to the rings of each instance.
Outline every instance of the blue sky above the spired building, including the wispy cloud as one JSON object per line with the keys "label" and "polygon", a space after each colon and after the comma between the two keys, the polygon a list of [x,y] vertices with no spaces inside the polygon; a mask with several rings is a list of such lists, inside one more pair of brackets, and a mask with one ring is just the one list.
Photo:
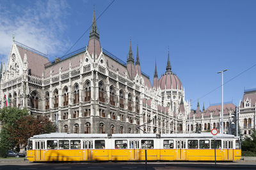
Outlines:
{"label": "blue sky above the spired building, including the wispy cloud", "polygon": [[[15,40],[61,57],[112,1],[0,1],[0,57],[7,62]],[[256,1],[118,1],[97,20],[103,48],[126,61],[129,39],[141,69],[159,78],[165,72],[168,46],[172,71],[196,108],[221,102],[218,71],[224,81],[256,64]],[[88,34],[71,51],[88,44]],[[256,67],[224,86],[224,101],[239,103],[244,88],[256,87]],[[202,97],[205,96],[205,97]]]}

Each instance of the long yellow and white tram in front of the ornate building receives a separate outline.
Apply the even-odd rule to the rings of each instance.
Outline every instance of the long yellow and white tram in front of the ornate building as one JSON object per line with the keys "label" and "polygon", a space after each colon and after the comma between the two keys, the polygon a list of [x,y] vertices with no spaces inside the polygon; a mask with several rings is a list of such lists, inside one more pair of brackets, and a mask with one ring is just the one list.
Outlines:
{"label": "long yellow and white tram in front of the ornate building", "polygon": [[[201,134],[40,134],[29,138],[29,162],[115,160],[214,161],[214,139]],[[241,159],[238,137],[216,135],[216,160]]]}

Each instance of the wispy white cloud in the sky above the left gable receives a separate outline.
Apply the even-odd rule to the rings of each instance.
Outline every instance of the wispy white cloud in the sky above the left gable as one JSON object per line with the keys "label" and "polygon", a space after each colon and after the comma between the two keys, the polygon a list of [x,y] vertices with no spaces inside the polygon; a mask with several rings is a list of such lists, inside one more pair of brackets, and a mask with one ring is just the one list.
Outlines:
{"label": "wispy white cloud in the sky above the left gable", "polygon": [[15,41],[35,48],[43,53],[56,54],[69,44],[61,39],[67,25],[65,18],[69,6],[66,1],[31,1],[34,4],[0,7],[0,57],[7,62],[12,45],[12,34]]}

